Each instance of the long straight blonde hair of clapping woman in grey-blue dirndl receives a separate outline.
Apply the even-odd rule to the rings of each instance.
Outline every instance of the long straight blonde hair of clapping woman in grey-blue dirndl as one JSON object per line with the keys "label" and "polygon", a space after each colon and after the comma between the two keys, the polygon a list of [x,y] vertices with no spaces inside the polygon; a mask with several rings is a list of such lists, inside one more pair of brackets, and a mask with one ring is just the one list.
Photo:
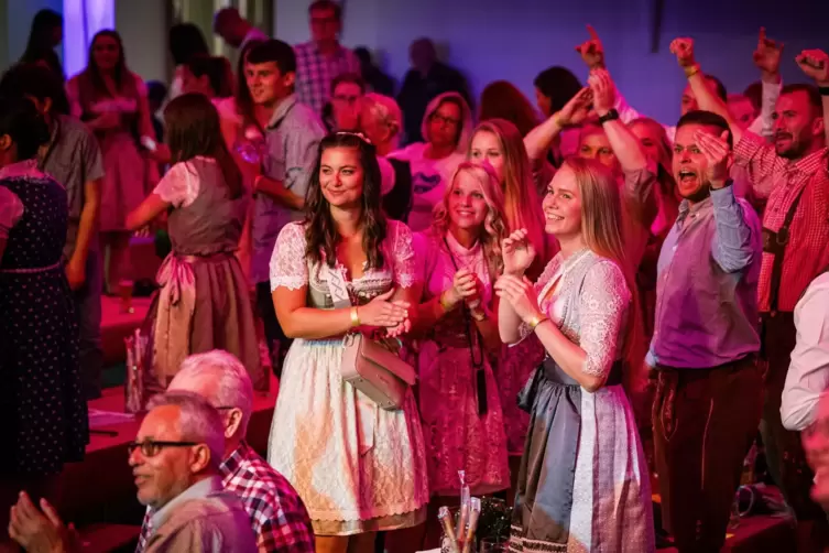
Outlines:
{"label": "long straight blonde hair of clapping woman in grey-blue dirndl", "polygon": [[642,367],[644,334],[634,270],[625,254],[622,239],[623,219],[619,184],[611,170],[595,160],[572,156],[564,162],[564,166],[572,171],[581,196],[581,238],[585,246],[597,256],[613,261],[622,270],[625,284],[631,292],[623,349],[629,364],[629,373],[625,375],[629,380]]}

